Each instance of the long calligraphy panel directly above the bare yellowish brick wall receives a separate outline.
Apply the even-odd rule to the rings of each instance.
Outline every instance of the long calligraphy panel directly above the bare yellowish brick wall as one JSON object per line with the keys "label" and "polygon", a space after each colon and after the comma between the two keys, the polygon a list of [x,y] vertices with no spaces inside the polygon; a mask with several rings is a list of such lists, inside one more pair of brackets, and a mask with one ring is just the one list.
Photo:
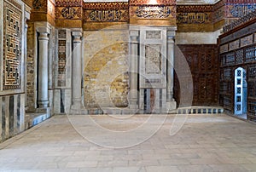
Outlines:
{"label": "long calligraphy panel directly above the bare yellowish brick wall", "polygon": [[87,22],[125,22],[129,20],[129,12],[125,9],[85,10],[84,20]]}

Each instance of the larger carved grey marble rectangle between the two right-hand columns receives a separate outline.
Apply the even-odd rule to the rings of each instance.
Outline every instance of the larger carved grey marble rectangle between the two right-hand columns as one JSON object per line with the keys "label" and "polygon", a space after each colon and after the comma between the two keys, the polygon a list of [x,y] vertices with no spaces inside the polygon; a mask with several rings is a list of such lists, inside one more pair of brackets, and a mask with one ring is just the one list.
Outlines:
{"label": "larger carved grey marble rectangle between the two right-hand columns", "polygon": [[161,46],[160,45],[146,45],[146,73],[160,74],[161,71]]}

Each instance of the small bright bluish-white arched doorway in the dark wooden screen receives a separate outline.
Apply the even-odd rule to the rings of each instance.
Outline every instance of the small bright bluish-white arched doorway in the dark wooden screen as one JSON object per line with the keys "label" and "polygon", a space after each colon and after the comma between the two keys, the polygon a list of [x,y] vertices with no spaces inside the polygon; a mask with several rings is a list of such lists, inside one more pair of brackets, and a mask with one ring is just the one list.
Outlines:
{"label": "small bright bluish-white arched doorway in the dark wooden screen", "polygon": [[247,72],[242,67],[235,70],[235,105],[234,113],[240,118],[247,118]]}

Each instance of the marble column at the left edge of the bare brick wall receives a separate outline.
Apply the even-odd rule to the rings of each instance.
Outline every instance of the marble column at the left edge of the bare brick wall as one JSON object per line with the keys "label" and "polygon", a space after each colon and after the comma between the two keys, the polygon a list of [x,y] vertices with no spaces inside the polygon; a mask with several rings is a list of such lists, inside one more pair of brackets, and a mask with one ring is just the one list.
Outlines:
{"label": "marble column at the left edge of the bare brick wall", "polygon": [[82,31],[73,31],[72,52],[72,113],[84,109],[82,104]]}

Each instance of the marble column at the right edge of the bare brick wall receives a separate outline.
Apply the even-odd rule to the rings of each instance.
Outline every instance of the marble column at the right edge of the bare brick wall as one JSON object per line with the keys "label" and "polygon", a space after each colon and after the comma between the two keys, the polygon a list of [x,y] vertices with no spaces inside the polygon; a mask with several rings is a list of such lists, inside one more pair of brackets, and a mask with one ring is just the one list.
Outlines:
{"label": "marble column at the right edge of the bare brick wall", "polygon": [[130,31],[130,93],[131,109],[138,109],[137,73],[138,73],[138,31]]}

